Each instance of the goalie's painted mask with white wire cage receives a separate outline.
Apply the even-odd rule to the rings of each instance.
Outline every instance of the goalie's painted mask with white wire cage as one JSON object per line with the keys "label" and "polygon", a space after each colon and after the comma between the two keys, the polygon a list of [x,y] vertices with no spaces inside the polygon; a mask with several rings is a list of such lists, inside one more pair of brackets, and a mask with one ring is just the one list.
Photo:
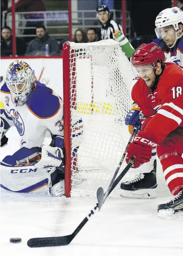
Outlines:
{"label": "goalie's painted mask with white wire cage", "polygon": [[5,82],[10,90],[12,101],[16,105],[24,105],[34,89],[34,70],[26,62],[16,60],[8,67]]}

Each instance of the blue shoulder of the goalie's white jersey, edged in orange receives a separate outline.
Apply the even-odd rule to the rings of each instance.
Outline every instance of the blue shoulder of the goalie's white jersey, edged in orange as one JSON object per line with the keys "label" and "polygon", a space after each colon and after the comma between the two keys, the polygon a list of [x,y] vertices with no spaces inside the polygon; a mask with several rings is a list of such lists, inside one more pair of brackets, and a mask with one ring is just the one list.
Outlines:
{"label": "blue shoulder of the goalie's white jersey, edged in orange", "polygon": [[59,97],[52,94],[53,90],[35,81],[35,89],[27,99],[26,105],[30,112],[38,118],[50,118],[60,109]]}

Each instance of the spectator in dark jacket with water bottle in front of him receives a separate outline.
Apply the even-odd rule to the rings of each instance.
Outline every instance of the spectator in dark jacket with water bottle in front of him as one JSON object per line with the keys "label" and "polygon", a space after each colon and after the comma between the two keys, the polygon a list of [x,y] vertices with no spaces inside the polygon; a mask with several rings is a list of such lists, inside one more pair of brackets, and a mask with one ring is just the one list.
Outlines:
{"label": "spectator in dark jacket with water bottle in front of him", "polygon": [[[46,47],[47,46],[47,47]],[[47,49],[49,48],[49,49]],[[54,38],[51,38],[44,26],[36,27],[36,38],[27,46],[26,56],[58,56],[59,45]]]}

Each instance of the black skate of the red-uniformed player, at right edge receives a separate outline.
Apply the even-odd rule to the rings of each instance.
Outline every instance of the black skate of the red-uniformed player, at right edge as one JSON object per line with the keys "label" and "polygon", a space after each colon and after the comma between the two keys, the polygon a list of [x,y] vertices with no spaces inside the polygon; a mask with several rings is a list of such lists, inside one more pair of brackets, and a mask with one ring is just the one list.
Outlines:
{"label": "black skate of the red-uniformed player, at right edge", "polygon": [[183,188],[180,189],[173,200],[170,200],[166,204],[158,205],[158,217],[161,219],[183,218]]}

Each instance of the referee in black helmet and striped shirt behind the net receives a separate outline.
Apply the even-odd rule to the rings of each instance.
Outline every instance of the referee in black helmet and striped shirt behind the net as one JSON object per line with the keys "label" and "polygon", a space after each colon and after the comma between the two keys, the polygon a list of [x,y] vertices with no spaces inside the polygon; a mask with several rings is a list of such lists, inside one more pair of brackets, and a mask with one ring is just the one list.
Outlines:
{"label": "referee in black helmet and striped shirt behind the net", "polygon": [[97,16],[102,23],[101,38],[102,40],[114,39],[115,30],[123,32],[121,25],[110,19],[109,8],[107,5],[100,5],[97,8]]}

